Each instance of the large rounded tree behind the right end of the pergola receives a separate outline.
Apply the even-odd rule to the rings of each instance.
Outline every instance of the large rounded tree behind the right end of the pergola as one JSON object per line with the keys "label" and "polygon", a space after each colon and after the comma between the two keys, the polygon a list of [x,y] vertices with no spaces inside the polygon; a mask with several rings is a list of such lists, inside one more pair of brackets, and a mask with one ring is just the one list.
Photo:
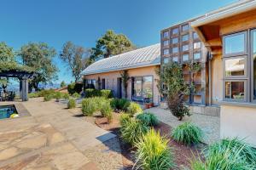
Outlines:
{"label": "large rounded tree behind the right end of the pergola", "polygon": [[53,64],[55,48],[49,47],[44,42],[30,42],[21,47],[19,55],[23,65],[32,67],[38,73],[38,76],[30,81],[30,89],[38,90],[40,82],[46,84],[57,79],[58,68]]}

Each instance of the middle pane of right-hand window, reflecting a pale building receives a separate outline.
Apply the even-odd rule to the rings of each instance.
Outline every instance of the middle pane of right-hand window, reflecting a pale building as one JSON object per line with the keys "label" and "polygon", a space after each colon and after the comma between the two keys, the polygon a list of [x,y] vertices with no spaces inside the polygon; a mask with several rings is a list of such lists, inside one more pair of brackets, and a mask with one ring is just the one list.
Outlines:
{"label": "middle pane of right-hand window, reflecting a pale building", "polygon": [[246,59],[244,58],[226,59],[225,60],[226,77],[244,76],[245,61]]}

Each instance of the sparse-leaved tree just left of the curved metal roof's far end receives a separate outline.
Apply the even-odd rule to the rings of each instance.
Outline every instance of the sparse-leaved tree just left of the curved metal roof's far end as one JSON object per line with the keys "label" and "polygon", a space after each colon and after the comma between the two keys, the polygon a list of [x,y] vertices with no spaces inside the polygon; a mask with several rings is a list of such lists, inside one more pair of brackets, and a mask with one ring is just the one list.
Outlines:
{"label": "sparse-leaved tree just left of the curved metal roof's far end", "polygon": [[60,58],[71,69],[75,82],[78,82],[81,78],[81,71],[92,63],[90,60],[90,49],[76,46],[73,42],[66,42],[63,45]]}

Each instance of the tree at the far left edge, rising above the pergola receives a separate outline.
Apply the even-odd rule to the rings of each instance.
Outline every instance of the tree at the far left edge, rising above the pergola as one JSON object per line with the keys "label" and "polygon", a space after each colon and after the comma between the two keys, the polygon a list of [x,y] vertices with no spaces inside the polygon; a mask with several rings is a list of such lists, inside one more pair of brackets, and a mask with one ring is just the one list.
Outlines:
{"label": "tree at the far left edge, rising above the pergola", "polygon": [[15,52],[5,42],[0,42],[0,62],[15,62]]}

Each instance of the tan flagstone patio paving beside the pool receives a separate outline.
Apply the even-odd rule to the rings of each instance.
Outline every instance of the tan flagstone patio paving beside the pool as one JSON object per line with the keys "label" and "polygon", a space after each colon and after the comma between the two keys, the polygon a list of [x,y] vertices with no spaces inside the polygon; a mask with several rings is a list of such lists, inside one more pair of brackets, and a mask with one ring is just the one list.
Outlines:
{"label": "tan flagstone patio paving beside the pool", "polygon": [[53,101],[31,99],[22,105],[31,116],[0,121],[0,170],[97,169],[84,151],[113,139],[114,134]]}

